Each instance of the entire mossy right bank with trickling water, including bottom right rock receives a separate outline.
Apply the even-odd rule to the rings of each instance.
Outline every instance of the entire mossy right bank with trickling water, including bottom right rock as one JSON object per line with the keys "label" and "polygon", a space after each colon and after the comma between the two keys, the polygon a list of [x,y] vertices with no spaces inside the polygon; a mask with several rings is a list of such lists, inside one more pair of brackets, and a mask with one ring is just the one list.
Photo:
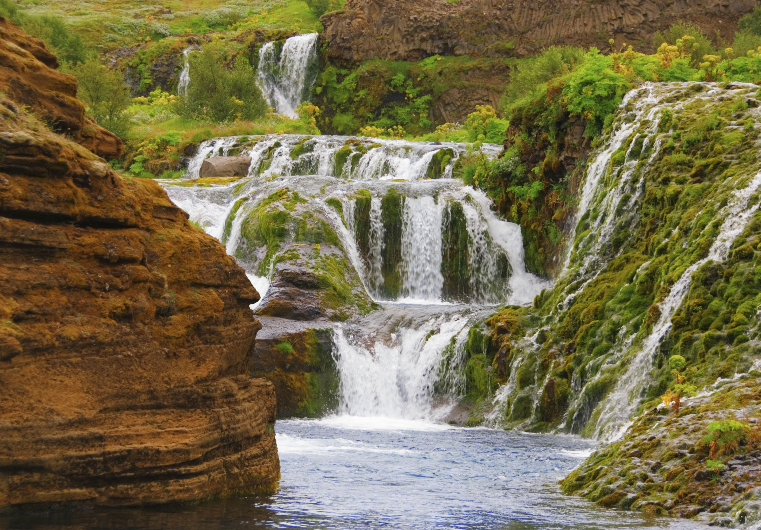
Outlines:
{"label": "entire mossy right bank with trickling water, including bottom right rock", "polygon": [[471,332],[471,424],[615,440],[562,482],[568,494],[759,518],[757,90],[632,90],[572,182],[555,286]]}

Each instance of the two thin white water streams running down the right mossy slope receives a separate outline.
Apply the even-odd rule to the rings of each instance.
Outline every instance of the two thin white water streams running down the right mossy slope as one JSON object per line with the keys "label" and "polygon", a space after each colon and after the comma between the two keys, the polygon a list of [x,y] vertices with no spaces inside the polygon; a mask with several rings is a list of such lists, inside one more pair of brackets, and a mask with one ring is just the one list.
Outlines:
{"label": "two thin white water streams running down the right mossy slope", "polygon": [[[747,123],[750,120],[756,124],[756,127],[761,122],[759,111],[756,110],[758,104],[749,99],[755,97],[756,90],[757,87],[750,84],[747,86],[737,84],[734,86],[734,91],[728,91],[724,87],[708,83],[663,83],[644,84],[627,94],[619,109],[619,115],[614,121],[612,132],[604,138],[603,146],[590,157],[587,164],[579,193],[579,208],[576,214],[578,225],[575,233],[572,234],[573,243],[569,244],[565,267],[559,275],[556,293],[552,294],[556,305],[552,313],[544,320],[545,324],[565,322],[564,319],[569,314],[568,309],[572,309],[575,299],[581,294],[588,297],[588,291],[585,291],[587,286],[595,288],[594,285],[606,285],[606,280],[600,280],[600,275],[610,274],[609,265],[616,259],[622,259],[622,254],[625,252],[632,252],[632,247],[626,247],[627,238],[633,237],[629,233],[629,228],[635,232],[638,223],[641,222],[641,217],[638,217],[641,214],[638,208],[643,208],[646,196],[657,196],[647,195],[648,192],[654,191],[648,188],[652,186],[648,184],[648,176],[652,180],[653,174],[659,174],[655,173],[654,164],[666,156],[663,150],[667,148],[667,145],[670,144],[673,149],[673,142],[669,141],[689,132],[689,129],[686,132],[683,130],[675,132],[673,126],[668,125],[669,116],[685,113],[691,119],[705,120],[708,118],[702,116],[718,116],[718,109],[714,110],[714,106],[728,101],[742,100],[746,105],[743,108],[747,109],[747,113],[744,114],[747,121],[740,122],[737,116],[743,116],[743,113],[738,113],[733,116],[737,121],[728,121],[724,132],[727,135],[734,135],[730,138],[746,135],[749,130]],[[696,108],[701,109],[702,113],[699,114],[701,117],[692,118],[693,115],[689,113],[695,113]],[[687,123],[692,125],[693,122]],[[673,151],[669,151],[669,154],[671,153]],[[716,153],[722,153],[721,146],[711,156],[717,156]],[[674,153],[673,157],[674,160],[686,159],[678,152]],[[675,229],[666,232],[666,239],[661,245],[664,249],[666,243],[672,241],[682,242],[680,248],[689,250],[670,265],[671,268],[668,270],[677,271],[679,275],[673,280],[670,288],[661,287],[666,294],[661,295],[661,300],[654,300],[651,309],[648,310],[651,314],[657,315],[651,328],[645,328],[642,333],[638,333],[642,323],[642,313],[635,313],[635,316],[640,317],[636,322],[632,316],[628,316],[630,320],[622,321],[623,325],[617,328],[615,338],[601,338],[601,334],[594,335],[597,334],[597,328],[602,327],[600,324],[594,328],[594,334],[591,332],[592,339],[587,338],[592,346],[584,353],[584,357],[575,353],[575,357],[578,357],[575,360],[581,360],[581,366],[575,368],[572,380],[568,381],[570,387],[568,388],[568,407],[565,409],[565,417],[558,418],[558,424],[563,430],[597,436],[603,440],[616,440],[626,431],[631,415],[640,405],[640,400],[645,397],[648,386],[654,383],[651,379],[651,371],[655,367],[654,361],[661,344],[669,336],[673,316],[683,305],[689,293],[693,273],[709,260],[721,263],[728,259],[732,243],[743,232],[759,206],[758,201],[751,198],[761,188],[761,173],[759,173],[758,164],[751,167],[756,168],[753,173],[749,170],[736,174],[730,173],[731,176],[721,179],[717,184],[712,184],[715,186],[712,188],[712,196],[706,198],[704,204],[693,207],[696,208],[696,220],[687,217],[687,220],[691,222],[686,224],[686,227],[683,226],[685,224],[683,221]],[[699,177],[693,179],[692,175],[687,176],[686,173],[683,175],[679,175],[678,171],[674,173],[666,173],[664,178],[667,178],[665,180],[667,183],[671,179],[674,184],[680,185],[671,188],[677,193],[686,187],[681,185],[701,182]],[[676,202],[676,199],[673,201]],[[673,203],[670,204],[673,205]],[[713,218],[715,221],[698,224],[697,219],[704,212],[708,218]],[[661,222],[665,224],[663,219]],[[707,224],[710,226],[706,226]],[[696,227],[698,230],[695,229]],[[690,244],[695,246],[695,241],[701,237],[704,237],[710,245],[705,246],[705,252],[696,252],[693,255],[693,247]],[[651,249],[650,252],[651,261],[638,265],[627,280],[629,283],[624,287],[633,289],[638,278],[647,278],[649,269],[654,266],[653,261],[658,255],[664,254],[662,250],[653,252]],[[595,281],[597,284],[593,283]],[[587,303],[589,303],[588,299],[585,304]],[[584,308],[587,305],[581,307]],[[613,309],[613,315],[621,319],[622,316],[616,313],[617,311],[620,309]],[[611,317],[598,316],[597,318]],[[536,414],[524,416],[521,419],[527,424],[531,421],[539,421],[537,411],[540,411],[541,401],[553,376],[552,371],[547,370],[545,375],[537,379],[535,385],[529,389],[521,389],[521,384],[517,382],[517,374],[525,370],[524,363],[527,363],[527,360],[546,355],[542,350],[541,342],[545,340],[548,332],[557,333],[558,331],[559,328],[545,325],[537,332],[533,332],[534,335],[514,344],[513,351],[520,353],[515,353],[512,357],[509,380],[495,396],[492,421],[498,423],[505,418],[505,414],[508,414],[510,410],[509,407],[519,395],[524,399],[523,403],[526,403],[526,399],[530,399],[528,410]],[[607,340],[610,340],[610,343],[600,346],[604,348],[602,354],[598,354],[597,349],[593,351],[592,348],[595,345],[603,344],[603,341]],[[569,349],[576,347],[575,341],[568,341]],[[573,351],[572,349],[565,351],[565,356]],[[537,375],[540,373],[540,370],[533,367],[531,370]],[[615,374],[613,383],[610,382],[612,374]]]}

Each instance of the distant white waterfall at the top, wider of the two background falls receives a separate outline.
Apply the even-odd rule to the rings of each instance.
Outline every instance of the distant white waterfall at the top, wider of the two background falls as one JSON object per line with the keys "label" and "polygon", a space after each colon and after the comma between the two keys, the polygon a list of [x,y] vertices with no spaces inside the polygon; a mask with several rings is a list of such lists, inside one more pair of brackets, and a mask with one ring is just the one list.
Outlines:
{"label": "distant white waterfall at the top, wider of the two background falls", "polygon": [[291,36],[282,46],[265,43],[259,52],[259,80],[263,94],[276,113],[295,116],[310,97],[317,80],[318,33]]}

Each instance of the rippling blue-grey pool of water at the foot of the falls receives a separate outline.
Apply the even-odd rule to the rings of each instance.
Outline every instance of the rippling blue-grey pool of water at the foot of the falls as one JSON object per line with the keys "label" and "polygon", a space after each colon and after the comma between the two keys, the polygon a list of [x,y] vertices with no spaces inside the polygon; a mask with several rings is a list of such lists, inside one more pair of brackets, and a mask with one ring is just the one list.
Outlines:
{"label": "rippling blue-grey pool of water at the foot of the falls", "polygon": [[0,517],[0,528],[677,528],[680,519],[602,509],[559,491],[589,440],[379,417],[276,425],[271,497]]}

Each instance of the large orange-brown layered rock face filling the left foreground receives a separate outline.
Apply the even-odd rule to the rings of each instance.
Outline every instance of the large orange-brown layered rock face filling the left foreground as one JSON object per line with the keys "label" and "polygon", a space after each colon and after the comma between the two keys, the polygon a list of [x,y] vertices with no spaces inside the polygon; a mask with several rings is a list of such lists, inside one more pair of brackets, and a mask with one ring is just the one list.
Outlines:
{"label": "large orange-brown layered rock face filling the left foreground", "polygon": [[[59,78],[13,46],[30,75]],[[39,104],[72,116],[75,89]],[[154,181],[2,98],[0,512],[274,488],[275,392],[248,373],[256,300]]]}

